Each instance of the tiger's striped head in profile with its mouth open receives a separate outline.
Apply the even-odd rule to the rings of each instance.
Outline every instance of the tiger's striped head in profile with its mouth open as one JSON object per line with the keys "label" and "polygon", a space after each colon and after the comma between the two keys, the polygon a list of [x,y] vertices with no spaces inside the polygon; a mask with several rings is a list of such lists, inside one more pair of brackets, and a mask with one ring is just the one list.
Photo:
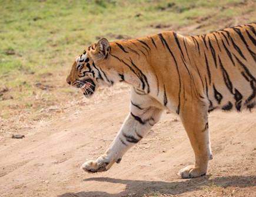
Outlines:
{"label": "tiger's striped head in profile with its mouth open", "polygon": [[105,38],[85,49],[72,64],[67,83],[81,89],[87,98],[91,97],[100,85],[112,85],[112,81],[109,81],[101,70],[101,66],[107,64],[110,49]]}

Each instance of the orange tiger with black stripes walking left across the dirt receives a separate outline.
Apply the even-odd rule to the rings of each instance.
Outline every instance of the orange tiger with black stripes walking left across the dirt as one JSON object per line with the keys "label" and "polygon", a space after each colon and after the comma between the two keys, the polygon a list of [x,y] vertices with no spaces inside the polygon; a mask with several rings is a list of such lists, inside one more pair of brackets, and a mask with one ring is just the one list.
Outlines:
{"label": "orange tiger with black stripes walking left across the dirt", "polygon": [[172,31],[138,39],[100,39],[71,66],[67,83],[91,98],[99,86],[131,86],[129,113],[107,151],[82,164],[87,172],[107,171],[141,141],[164,111],[175,113],[194,151],[194,165],[181,178],[207,173],[212,159],[208,113],[250,111],[256,104],[256,23],[204,35]]}

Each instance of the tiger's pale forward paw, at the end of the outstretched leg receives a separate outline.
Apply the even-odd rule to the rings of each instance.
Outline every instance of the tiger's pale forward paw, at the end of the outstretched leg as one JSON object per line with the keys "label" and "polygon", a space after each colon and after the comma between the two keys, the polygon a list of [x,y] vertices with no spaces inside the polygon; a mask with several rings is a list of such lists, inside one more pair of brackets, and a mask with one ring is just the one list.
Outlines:
{"label": "tiger's pale forward paw, at the end of the outstretched leg", "polygon": [[85,162],[81,168],[86,172],[103,172],[109,169],[108,164],[109,163],[104,156],[100,156],[97,160],[89,160]]}

